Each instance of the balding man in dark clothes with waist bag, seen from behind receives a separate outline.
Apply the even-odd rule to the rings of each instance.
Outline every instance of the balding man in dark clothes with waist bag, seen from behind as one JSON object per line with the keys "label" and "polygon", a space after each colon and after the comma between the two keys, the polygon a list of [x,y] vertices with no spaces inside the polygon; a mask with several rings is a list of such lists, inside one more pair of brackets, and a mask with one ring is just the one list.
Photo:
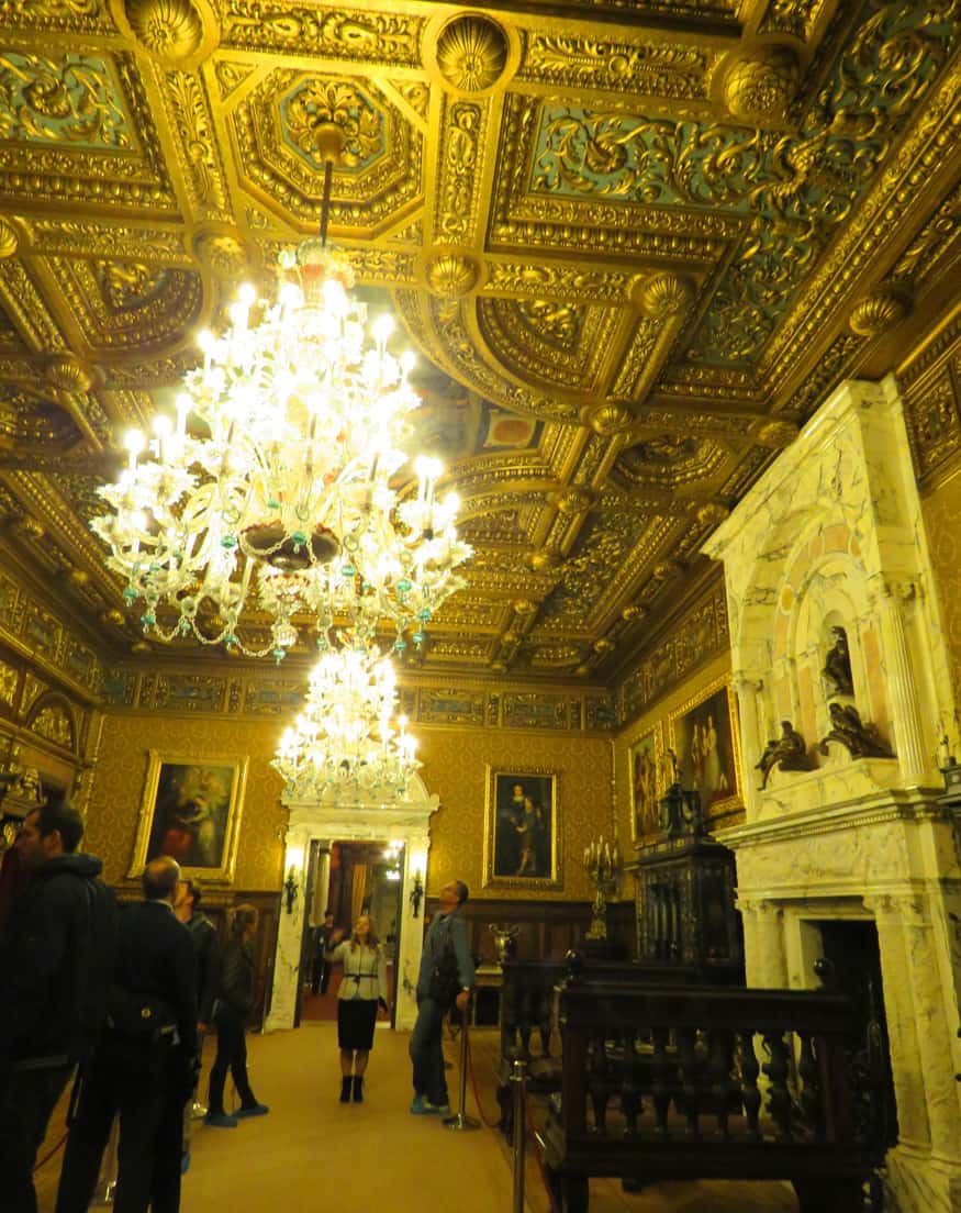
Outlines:
{"label": "balding man in dark clothes with waist bag, seen from behind", "polygon": [[196,961],[173,916],[181,870],[151,860],[147,898],[120,915],[103,1037],[85,1072],[67,1140],[57,1213],[85,1213],[114,1115],[120,1146],[114,1213],[177,1213],[183,1105],[194,1086]]}

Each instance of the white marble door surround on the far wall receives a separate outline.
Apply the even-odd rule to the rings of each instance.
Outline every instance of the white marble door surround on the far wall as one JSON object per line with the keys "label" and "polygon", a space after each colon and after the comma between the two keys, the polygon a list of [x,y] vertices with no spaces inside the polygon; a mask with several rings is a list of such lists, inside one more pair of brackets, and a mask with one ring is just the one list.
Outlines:
{"label": "white marble door surround on the far wall", "polygon": [[[310,842],[319,838],[331,843],[337,841],[370,839],[384,842],[396,839],[404,843],[404,873],[401,889],[401,921],[399,951],[396,957],[396,1016],[401,1030],[413,1027],[417,1018],[417,973],[423,950],[423,901],[414,917],[411,900],[416,878],[427,881],[427,859],[430,849],[430,815],[440,803],[436,793],[428,795],[419,778],[407,788],[407,798],[395,804],[327,804],[285,799],[290,810],[287,826],[287,854],[285,876],[293,870],[301,882],[301,895],[293,909],[286,911],[282,902],[278,947],[274,963],[274,990],[270,1014],[265,1030],[293,1027],[297,1006],[297,985],[301,980],[301,940],[304,926],[303,878]],[[282,899],[281,899],[282,901]]]}

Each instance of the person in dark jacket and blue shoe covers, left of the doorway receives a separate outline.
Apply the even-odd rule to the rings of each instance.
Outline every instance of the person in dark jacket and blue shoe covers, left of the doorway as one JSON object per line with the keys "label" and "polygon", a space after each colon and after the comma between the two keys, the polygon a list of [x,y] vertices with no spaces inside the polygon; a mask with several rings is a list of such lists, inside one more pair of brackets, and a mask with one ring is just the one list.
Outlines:
{"label": "person in dark jacket and blue shoe covers, left of the doorway", "polygon": [[[270,1109],[259,1104],[247,1077],[247,1043],[244,1021],[253,1007],[253,936],[257,934],[257,910],[240,905],[234,910],[230,939],[221,957],[221,984],[217,996],[217,1058],[210,1072],[206,1123],[218,1129],[235,1129],[238,1116],[264,1116]],[[227,1071],[240,1097],[233,1115],[223,1106]]]}

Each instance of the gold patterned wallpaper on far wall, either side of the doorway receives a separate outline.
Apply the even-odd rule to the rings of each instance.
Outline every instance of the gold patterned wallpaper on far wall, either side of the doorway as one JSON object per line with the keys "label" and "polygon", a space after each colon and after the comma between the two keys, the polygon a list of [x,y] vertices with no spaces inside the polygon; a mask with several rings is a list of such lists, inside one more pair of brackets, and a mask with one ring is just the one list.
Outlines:
{"label": "gold patterned wallpaper on far wall, either side of the doorway", "polygon": [[[87,847],[104,861],[109,883],[127,873],[137,832],[148,753],[247,756],[247,788],[234,884],[247,890],[280,888],[286,814],[281,780],[270,769],[279,723],[225,718],[164,718],[111,714],[103,730],[87,810]],[[611,827],[611,742],[494,729],[422,728],[418,734],[423,779],[441,808],[431,821],[428,893],[445,879],[464,879],[476,898],[503,895],[481,888],[486,765],[544,768],[557,774],[561,809],[564,887],[543,894],[587,899],[590,892],[578,864],[584,847]],[[505,742],[509,741],[509,745]],[[526,894],[536,896],[536,894]]]}

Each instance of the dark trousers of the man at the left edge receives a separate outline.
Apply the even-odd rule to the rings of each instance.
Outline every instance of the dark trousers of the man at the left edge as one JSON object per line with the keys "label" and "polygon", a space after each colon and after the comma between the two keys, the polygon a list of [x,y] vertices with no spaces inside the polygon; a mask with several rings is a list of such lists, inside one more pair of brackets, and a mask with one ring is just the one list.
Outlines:
{"label": "dark trousers of the man at the left edge", "polygon": [[15,1070],[0,1080],[0,1188],[4,1213],[36,1213],[33,1169],[73,1065]]}

